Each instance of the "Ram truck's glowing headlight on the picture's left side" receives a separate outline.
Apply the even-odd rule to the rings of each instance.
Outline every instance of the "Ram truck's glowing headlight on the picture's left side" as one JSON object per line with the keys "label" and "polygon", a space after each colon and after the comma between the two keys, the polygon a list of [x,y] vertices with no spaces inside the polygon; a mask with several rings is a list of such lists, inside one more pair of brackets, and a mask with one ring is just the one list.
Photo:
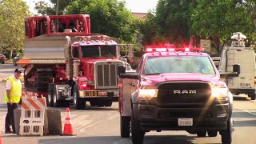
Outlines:
{"label": "Ram truck's glowing headlight on the picture's left side", "polygon": [[154,87],[143,87],[138,90],[138,98],[144,101],[150,101],[158,96],[158,89]]}

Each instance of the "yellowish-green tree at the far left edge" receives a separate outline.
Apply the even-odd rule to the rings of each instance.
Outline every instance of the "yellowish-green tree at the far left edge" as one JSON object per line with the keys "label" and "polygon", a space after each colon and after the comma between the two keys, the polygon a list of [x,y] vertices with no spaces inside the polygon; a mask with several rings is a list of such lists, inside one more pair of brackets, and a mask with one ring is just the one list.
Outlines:
{"label": "yellowish-green tree at the far left edge", "polygon": [[23,49],[24,18],[30,15],[29,7],[22,0],[2,0],[0,3],[0,46],[2,51]]}

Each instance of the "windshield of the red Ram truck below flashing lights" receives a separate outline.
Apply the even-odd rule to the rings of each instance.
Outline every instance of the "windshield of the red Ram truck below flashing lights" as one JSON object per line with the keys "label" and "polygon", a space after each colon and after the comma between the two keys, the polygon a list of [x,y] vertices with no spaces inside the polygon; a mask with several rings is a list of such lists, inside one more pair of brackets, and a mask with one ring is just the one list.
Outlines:
{"label": "windshield of the red Ram truck below flashing lights", "polygon": [[208,57],[172,56],[147,58],[144,74],[164,73],[215,74],[215,71]]}

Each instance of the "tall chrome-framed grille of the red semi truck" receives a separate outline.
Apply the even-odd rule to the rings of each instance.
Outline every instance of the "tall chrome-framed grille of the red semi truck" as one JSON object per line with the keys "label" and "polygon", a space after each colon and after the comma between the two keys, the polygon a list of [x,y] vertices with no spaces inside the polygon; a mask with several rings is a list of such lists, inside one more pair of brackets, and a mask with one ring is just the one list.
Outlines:
{"label": "tall chrome-framed grille of the red semi truck", "polygon": [[118,88],[118,65],[122,62],[96,63],[96,88]]}

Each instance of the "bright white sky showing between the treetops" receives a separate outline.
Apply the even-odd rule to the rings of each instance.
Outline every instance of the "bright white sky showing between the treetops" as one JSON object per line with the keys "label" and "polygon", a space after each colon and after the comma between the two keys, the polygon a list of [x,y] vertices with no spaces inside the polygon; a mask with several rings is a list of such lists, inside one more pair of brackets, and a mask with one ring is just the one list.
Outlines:
{"label": "bright white sky showing between the treetops", "polygon": [[[40,0],[23,0],[30,6],[31,13],[35,14],[34,10],[34,2],[38,2]],[[45,2],[50,2],[50,0],[42,0]],[[62,0],[60,0],[61,2]],[[148,10],[155,9],[155,6],[158,4],[158,0],[125,0],[126,8],[131,12],[138,13],[146,13]]]}

